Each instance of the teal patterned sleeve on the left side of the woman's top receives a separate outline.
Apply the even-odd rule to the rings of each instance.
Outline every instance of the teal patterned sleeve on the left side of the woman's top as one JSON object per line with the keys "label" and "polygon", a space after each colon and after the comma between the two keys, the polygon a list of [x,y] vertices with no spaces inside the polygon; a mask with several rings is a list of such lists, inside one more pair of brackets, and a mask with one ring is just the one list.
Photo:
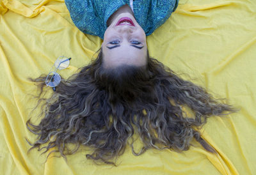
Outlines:
{"label": "teal patterned sleeve on the left side of the woman's top", "polygon": [[[102,19],[97,15],[92,0],[65,0],[70,17],[79,30],[103,38]],[[102,30],[102,31],[101,31]]]}

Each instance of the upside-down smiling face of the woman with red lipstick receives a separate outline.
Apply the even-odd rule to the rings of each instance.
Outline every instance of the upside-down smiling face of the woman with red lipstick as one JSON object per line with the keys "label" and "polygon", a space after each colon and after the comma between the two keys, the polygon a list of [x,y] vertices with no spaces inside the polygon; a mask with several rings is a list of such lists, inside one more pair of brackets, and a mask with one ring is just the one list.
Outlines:
{"label": "upside-down smiling face of the woman with red lipstick", "polygon": [[102,52],[106,68],[147,63],[146,34],[130,13],[121,13],[108,27]]}

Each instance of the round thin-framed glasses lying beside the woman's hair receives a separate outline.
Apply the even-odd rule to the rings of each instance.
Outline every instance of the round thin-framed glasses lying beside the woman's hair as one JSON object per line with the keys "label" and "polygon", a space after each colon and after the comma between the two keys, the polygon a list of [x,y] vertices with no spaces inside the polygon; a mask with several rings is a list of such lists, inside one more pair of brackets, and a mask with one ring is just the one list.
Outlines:
{"label": "round thin-framed glasses lying beside the woman's hair", "polygon": [[[52,65],[52,68],[50,70],[50,73],[48,73],[46,79],[45,79],[45,84],[46,86],[52,87],[53,91],[56,91],[56,86],[60,84],[61,77],[59,73],[57,73],[57,70],[63,70],[68,67],[70,63],[71,57],[65,57],[65,56],[60,56],[58,59],[55,61],[55,63]],[[54,71],[52,71],[55,69]]]}

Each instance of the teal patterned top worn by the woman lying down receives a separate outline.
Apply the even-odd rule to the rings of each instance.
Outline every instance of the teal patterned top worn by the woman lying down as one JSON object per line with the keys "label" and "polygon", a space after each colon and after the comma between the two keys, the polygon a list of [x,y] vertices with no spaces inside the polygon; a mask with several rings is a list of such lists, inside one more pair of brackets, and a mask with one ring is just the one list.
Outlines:
{"label": "teal patterned top worn by the woman lying down", "polygon": [[[153,33],[164,24],[179,0],[134,0],[134,17],[146,35]],[[121,6],[129,4],[129,0],[65,0],[74,24],[83,33],[104,38],[108,18]]]}

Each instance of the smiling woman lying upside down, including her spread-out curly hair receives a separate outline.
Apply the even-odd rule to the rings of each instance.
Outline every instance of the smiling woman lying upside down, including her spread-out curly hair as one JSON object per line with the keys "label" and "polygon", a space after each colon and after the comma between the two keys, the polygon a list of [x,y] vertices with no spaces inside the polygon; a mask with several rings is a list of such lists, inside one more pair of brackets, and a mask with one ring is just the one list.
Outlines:
{"label": "smiling woman lying upside down, including her spread-out curly hair", "polygon": [[[75,24],[76,21],[83,23],[79,14],[85,14],[85,5],[87,11],[92,11],[89,7],[99,6],[97,1],[72,2],[66,1],[66,4]],[[196,128],[206,123],[209,116],[226,115],[236,109],[218,102],[204,88],[180,79],[172,70],[148,56],[146,35],[163,24],[161,22],[170,16],[170,11],[175,10],[176,2],[167,1],[167,15],[161,16],[162,19],[152,17],[160,20],[156,23],[150,20],[154,26],[145,29],[134,18],[136,9],[142,8],[142,4],[128,6],[126,1],[120,1],[116,6],[108,1],[100,2],[114,10],[109,17],[102,18],[109,26],[106,31],[103,30],[104,42],[99,55],[79,73],[68,80],[61,80],[51,98],[39,100],[45,102],[42,108],[44,118],[39,125],[33,125],[30,120],[27,122],[28,129],[38,135],[37,141],[31,144],[32,148],[45,148],[45,152],[56,148],[54,151],[65,157],[84,145],[92,148],[87,158],[115,164],[113,158],[122,155],[127,145],[131,146],[134,155],[141,155],[150,148],[182,151],[189,149],[189,142],[195,138],[207,151],[214,153],[214,148],[200,137]],[[160,6],[163,1],[135,2]],[[77,4],[79,13],[72,15]],[[119,7],[118,10],[115,11],[113,6]],[[96,10],[98,14],[99,11]],[[104,14],[109,14],[107,12]],[[159,11],[159,14],[163,13]],[[86,22],[95,20],[90,15],[86,17],[89,19]],[[95,29],[90,23],[85,24]],[[81,27],[81,24],[76,25]],[[89,29],[84,30],[89,33]],[[100,29],[99,33],[90,34],[103,37]],[[45,79],[39,77],[34,80],[41,88],[40,95]],[[193,110],[192,118],[187,117],[184,106]],[[223,113],[225,111],[226,114]],[[138,153],[133,149],[134,135],[138,135],[143,144]],[[46,146],[42,147],[43,144]],[[70,149],[68,144],[75,144],[76,148]]]}

